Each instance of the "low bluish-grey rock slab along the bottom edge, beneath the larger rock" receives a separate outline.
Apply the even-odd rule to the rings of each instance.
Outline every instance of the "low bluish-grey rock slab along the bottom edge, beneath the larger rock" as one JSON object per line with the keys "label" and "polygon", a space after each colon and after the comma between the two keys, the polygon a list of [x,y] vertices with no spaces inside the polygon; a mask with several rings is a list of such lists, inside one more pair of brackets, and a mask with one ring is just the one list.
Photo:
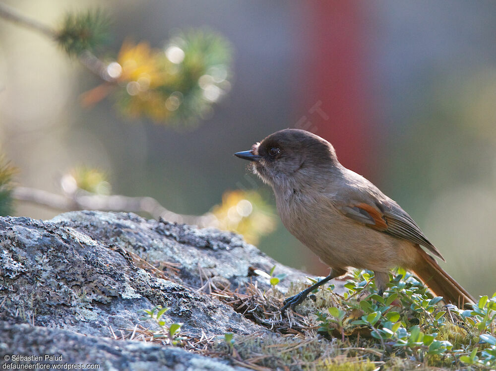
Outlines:
{"label": "low bluish-grey rock slab along the bottom edge, beneath the larger rock", "polygon": [[[177,347],[164,347],[137,341],[119,341],[84,336],[71,331],[2,323],[0,364],[31,363],[43,365],[99,365],[100,370],[247,370],[226,361],[188,353]],[[12,346],[15,345],[15,349]],[[5,361],[5,355],[11,359]],[[17,361],[15,356],[40,359]],[[47,358],[46,358],[47,357]],[[55,357],[50,360],[48,357]],[[20,359],[20,358],[19,358]],[[1,366],[0,366],[1,367]],[[88,367],[90,368],[90,367]]]}

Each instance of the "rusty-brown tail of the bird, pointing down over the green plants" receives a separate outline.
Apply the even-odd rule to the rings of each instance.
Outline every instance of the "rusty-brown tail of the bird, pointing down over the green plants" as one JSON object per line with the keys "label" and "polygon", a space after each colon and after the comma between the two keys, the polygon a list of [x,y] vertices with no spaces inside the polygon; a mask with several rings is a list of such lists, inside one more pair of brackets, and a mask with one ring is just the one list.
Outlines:
{"label": "rusty-brown tail of the bird, pointing down over the green plants", "polygon": [[442,296],[445,302],[454,304],[458,308],[463,308],[467,303],[475,303],[472,295],[447,274],[431,255],[422,248],[419,248],[419,252],[421,258],[412,270],[435,295]]}

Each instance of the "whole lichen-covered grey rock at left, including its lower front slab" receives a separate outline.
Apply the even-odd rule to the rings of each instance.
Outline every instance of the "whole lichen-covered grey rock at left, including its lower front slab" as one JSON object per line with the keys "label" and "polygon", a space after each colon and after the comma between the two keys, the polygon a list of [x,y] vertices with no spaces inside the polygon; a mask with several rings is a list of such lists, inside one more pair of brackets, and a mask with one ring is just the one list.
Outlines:
{"label": "whole lichen-covered grey rock at left, including its lower front slab", "polygon": [[[136,264],[178,263],[158,278]],[[147,264],[148,264],[147,263]],[[0,352],[61,354],[63,362],[99,363],[105,370],[232,370],[225,361],[173,346],[110,339],[140,324],[138,312],[170,307],[189,337],[278,336],[198,290],[205,280],[233,289],[256,282],[254,269],[288,274],[278,288],[305,274],[282,266],[232,233],[197,229],[129,213],[69,212],[49,221],[0,218]],[[28,324],[29,323],[29,324]],[[59,362],[60,363],[60,362]]]}

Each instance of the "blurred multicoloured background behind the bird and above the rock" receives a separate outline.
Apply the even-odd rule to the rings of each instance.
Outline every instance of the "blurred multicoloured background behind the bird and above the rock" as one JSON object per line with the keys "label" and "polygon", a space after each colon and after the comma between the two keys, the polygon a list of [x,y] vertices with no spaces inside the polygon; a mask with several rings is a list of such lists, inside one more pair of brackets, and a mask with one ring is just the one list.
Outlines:
{"label": "blurred multicoloured background behind the bird and above the rock", "polygon": [[[206,108],[169,120],[167,110],[133,111],[134,85],[120,85],[127,100],[107,96],[101,76],[50,37],[0,18],[0,152],[18,169],[16,186],[61,194],[67,174],[96,168],[106,174],[103,193],[111,185],[178,214],[213,213],[227,218],[221,228],[237,227],[258,203],[263,225],[245,225],[249,240],[281,263],[327,275],[274,214],[271,189],[233,156],[273,131],[305,128],[395,199],[467,290],[495,292],[496,2],[2,2],[53,27],[68,11],[103,7],[112,38],[99,57],[119,68],[149,57],[146,45],[136,48],[142,41],[165,50],[167,63],[184,63],[168,48],[192,29],[215,32],[224,49],[212,53],[227,53],[194,81]],[[171,112],[183,101],[174,94]],[[61,212],[14,206],[17,216]]]}

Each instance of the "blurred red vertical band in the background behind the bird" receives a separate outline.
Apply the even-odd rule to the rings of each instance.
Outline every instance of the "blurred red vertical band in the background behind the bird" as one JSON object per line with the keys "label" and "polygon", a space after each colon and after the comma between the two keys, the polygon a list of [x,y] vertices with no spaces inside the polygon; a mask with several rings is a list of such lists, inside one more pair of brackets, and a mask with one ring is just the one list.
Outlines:
{"label": "blurred red vertical band in the background behind the bird", "polygon": [[[355,0],[307,4],[311,26],[303,42],[310,60],[302,81],[306,92],[302,103],[303,109],[311,108],[297,127],[329,140],[344,166],[373,179],[376,166],[370,154],[375,152],[376,136],[366,75],[370,58],[364,17],[368,5]],[[312,271],[328,271],[316,257],[314,262]]]}

